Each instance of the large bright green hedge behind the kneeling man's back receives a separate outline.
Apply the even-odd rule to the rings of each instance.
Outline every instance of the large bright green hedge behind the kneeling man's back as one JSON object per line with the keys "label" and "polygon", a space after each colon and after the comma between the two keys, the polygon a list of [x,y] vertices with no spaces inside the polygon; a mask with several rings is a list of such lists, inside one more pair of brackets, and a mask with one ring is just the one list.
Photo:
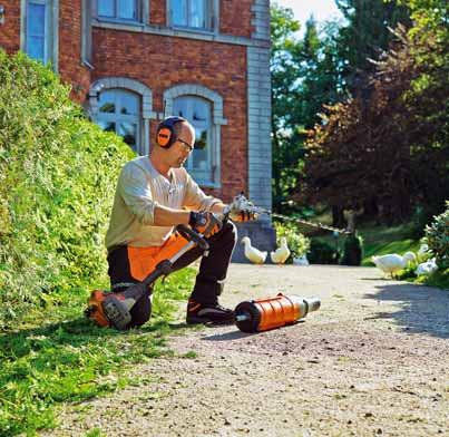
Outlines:
{"label": "large bright green hedge behind the kneeling man's back", "polygon": [[104,235],[131,150],[42,65],[0,50],[0,328],[106,272]]}

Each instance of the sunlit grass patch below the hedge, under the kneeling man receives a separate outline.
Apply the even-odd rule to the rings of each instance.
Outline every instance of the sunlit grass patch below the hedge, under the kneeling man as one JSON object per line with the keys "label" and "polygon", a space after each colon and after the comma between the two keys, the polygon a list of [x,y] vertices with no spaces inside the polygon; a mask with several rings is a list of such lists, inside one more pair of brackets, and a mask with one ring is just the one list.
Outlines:
{"label": "sunlit grass patch below the hedge, under the kneeling man", "polygon": [[[81,402],[125,387],[127,370],[167,353],[176,301],[185,300],[195,271],[184,269],[156,285],[150,323],[119,332],[82,317],[86,291],[52,297],[16,330],[0,334],[0,435],[33,435],[57,426],[62,402]],[[96,435],[96,434],[94,434]]]}

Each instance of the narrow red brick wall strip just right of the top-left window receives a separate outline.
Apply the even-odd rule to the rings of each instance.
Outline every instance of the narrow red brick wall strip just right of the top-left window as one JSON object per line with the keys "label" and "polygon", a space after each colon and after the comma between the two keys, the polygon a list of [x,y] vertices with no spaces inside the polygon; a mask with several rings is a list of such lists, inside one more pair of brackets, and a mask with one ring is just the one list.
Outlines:
{"label": "narrow red brick wall strip just right of the top-left window", "polygon": [[82,103],[89,90],[90,70],[81,65],[81,0],[59,2],[59,74],[72,86],[71,98]]}

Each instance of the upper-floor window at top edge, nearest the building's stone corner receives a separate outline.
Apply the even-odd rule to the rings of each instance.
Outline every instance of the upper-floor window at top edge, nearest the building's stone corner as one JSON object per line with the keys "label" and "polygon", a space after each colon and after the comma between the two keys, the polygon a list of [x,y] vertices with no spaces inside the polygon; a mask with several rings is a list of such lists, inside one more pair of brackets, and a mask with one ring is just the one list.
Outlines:
{"label": "upper-floor window at top edge, nearest the building's stone corner", "polygon": [[213,0],[172,0],[170,17],[175,27],[212,29]]}

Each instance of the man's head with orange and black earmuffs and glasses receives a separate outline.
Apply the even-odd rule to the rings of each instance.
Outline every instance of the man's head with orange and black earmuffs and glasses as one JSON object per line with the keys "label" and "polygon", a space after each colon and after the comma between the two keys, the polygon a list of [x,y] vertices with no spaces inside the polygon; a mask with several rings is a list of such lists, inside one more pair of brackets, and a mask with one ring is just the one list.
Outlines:
{"label": "man's head with orange and black earmuffs and glasses", "polygon": [[156,133],[156,147],[170,167],[180,167],[195,145],[195,129],[182,117],[168,117],[160,122]]}

